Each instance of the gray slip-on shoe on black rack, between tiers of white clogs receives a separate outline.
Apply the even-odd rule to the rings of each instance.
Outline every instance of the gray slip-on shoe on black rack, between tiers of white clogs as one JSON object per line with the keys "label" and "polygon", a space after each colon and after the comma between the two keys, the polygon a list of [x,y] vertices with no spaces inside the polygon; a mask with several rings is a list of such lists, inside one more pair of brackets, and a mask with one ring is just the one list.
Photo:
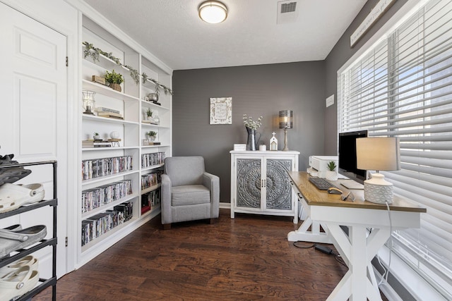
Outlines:
{"label": "gray slip-on shoe on black rack, between tiers of white clogs", "polygon": [[0,229],[0,258],[43,240],[45,235],[47,235],[47,228],[44,225],[19,231]]}

